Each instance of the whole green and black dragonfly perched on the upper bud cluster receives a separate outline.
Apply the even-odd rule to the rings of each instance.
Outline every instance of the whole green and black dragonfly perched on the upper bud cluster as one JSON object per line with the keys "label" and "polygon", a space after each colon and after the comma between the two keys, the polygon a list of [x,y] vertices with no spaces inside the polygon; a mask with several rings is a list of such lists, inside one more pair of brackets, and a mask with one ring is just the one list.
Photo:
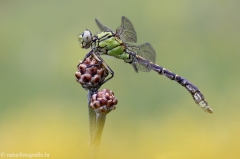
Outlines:
{"label": "whole green and black dragonfly perched on the upper bud cluster", "polygon": [[213,113],[213,109],[209,106],[205,97],[195,85],[187,79],[155,64],[156,52],[151,44],[133,44],[137,42],[137,33],[132,22],[127,17],[122,16],[121,25],[116,29],[116,32],[103,25],[98,19],[95,19],[95,21],[101,32],[92,35],[92,33],[86,29],[83,33],[78,35],[78,41],[83,49],[91,48],[91,51],[86,54],[85,59],[94,54],[94,56],[98,57],[109,70],[111,77],[105,80],[105,82],[114,76],[114,72],[103,61],[100,55],[108,55],[121,59],[125,63],[132,65],[137,73],[139,71],[149,72],[153,70],[170,80],[176,81],[187,89],[195,103],[204,111]]}

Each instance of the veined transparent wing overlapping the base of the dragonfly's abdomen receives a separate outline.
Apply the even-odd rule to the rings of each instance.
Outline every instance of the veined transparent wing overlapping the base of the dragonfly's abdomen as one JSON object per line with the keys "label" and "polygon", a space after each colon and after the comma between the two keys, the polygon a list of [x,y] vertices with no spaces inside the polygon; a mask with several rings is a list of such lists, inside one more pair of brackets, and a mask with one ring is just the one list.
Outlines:
{"label": "veined transparent wing overlapping the base of the dragonfly's abdomen", "polygon": [[139,56],[133,60],[133,67],[143,72],[151,70],[149,62],[155,63],[156,61],[156,52],[151,44],[145,43],[139,46],[127,44],[127,50]]}

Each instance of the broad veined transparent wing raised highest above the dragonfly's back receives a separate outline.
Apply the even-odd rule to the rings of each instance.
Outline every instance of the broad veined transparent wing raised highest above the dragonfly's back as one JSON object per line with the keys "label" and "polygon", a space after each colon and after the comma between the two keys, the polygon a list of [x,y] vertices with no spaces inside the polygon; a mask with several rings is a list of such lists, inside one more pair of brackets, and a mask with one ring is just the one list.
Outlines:
{"label": "broad veined transparent wing raised highest above the dragonfly's back", "polygon": [[116,34],[123,42],[137,42],[137,33],[129,19],[122,16],[122,24],[117,28]]}

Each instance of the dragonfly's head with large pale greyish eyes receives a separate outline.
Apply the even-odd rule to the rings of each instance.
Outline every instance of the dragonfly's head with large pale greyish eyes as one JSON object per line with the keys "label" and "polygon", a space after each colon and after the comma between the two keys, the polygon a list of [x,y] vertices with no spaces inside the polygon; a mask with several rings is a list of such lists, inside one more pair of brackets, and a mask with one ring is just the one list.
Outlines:
{"label": "dragonfly's head with large pale greyish eyes", "polygon": [[89,30],[85,30],[82,34],[78,35],[78,41],[82,48],[88,49],[92,43],[92,33]]}

